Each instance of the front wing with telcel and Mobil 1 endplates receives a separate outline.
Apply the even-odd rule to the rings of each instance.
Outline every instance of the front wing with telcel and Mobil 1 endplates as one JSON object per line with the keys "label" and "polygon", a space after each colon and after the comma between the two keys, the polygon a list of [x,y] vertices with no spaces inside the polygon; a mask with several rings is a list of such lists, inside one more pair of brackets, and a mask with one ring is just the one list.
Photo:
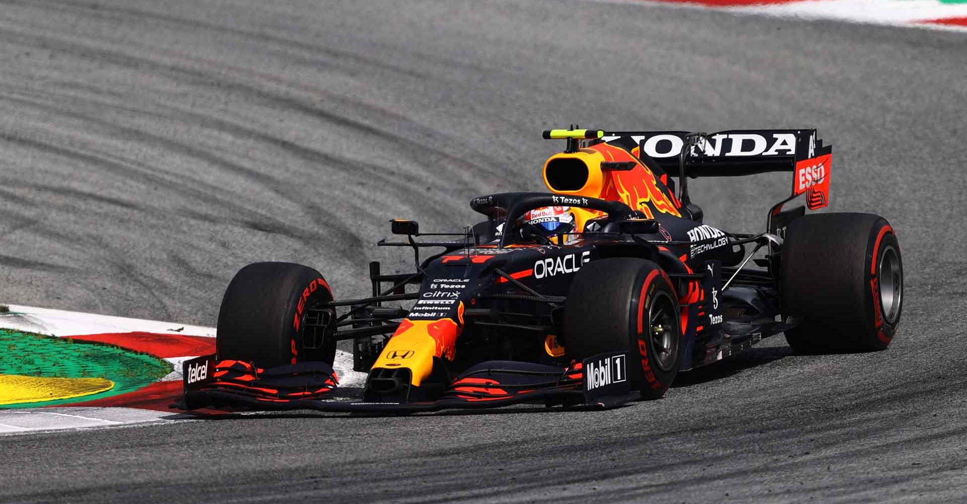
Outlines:
{"label": "front wing with telcel and Mobil 1 endplates", "polygon": [[301,363],[269,370],[214,355],[184,364],[180,409],[297,410],[346,413],[418,413],[448,408],[494,408],[524,402],[547,405],[619,406],[630,390],[628,356],[596,355],[557,368],[515,361],[488,361],[457,376],[435,400],[366,402],[342,397],[336,371],[326,363]]}

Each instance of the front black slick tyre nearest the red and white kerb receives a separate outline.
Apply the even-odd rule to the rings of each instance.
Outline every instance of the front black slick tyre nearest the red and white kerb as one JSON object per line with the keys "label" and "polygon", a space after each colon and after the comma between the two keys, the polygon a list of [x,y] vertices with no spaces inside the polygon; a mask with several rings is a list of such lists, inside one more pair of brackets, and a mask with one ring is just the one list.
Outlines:
{"label": "front black slick tyre nearest the red and white kerb", "polygon": [[235,275],[221,300],[217,356],[264,369],[305,361],[332,364],[336,341],[322,341],[318,348],[305,344],[308,311],[332,300],[329,284],[312,268],[287,262],[249,264]]}

